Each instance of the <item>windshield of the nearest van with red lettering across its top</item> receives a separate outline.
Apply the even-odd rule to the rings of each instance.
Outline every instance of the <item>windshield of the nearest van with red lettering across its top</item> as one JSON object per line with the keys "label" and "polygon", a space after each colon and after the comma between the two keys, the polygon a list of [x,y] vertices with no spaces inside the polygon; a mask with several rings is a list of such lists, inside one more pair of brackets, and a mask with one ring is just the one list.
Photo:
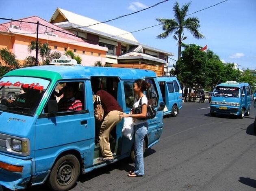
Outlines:
{"label": "windshield of the nearest van with red lettering across its top", "polygon": [[7,76],[0,79],[0,111],[33,115],[50,81]]}

